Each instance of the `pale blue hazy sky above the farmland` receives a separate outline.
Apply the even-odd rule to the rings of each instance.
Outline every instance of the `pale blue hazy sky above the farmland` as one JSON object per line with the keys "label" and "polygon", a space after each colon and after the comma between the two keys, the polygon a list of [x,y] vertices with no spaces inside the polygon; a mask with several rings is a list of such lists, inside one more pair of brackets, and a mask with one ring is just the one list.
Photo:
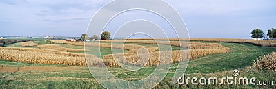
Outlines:
{"label": "pale blue hazy sky above the farmland", "polygon": [[[110,0],[1,0],[0,36],[78,37],[86,33],[93,16],[109,2]],[[190,38],[250,38],[253,29],[262,29],[266,33],[268,29],[276,28],[275,0],[166,2],[183,18]],[[116,7],[119,8],[120,5]],[[169,38],[175,38],[170,33],[172,29],[164,26],[168,25],[164,19],[145,11],[125,12],[110,21],[105,30],[114,36],[124,23],[137,19],[152,21],[162,27]]]}

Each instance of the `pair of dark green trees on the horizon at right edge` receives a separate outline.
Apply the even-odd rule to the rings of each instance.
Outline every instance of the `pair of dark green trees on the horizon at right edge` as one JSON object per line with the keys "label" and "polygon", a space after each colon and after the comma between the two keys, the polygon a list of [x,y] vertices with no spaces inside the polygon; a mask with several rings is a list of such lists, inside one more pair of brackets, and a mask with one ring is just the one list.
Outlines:
{"label": "pair of dark green trees on the horizon at right edge", "polygon": [[271,28],[268,29],[268,33],[264,35],[264,31],[262,29],[253,29],[251,31],[251,38],[264,38],[266,39],[266,36],[268,36],[270,39],[275,39],[276,38],[276,29]]}

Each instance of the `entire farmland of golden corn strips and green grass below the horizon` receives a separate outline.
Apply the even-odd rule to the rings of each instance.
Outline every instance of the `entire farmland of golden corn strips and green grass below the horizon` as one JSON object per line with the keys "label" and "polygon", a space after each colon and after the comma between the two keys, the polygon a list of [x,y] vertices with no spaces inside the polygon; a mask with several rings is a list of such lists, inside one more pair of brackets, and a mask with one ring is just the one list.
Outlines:
{"label": "entire farmland of golden corn strips and green grass below the horizon", "polygon": [[[160,41],[164,41],[161,42],[163,44],[158,46],[157,42],[153,40],[129,40],[127,41],[129,43],[127,44],[131,45],[129,45],[128,48],[124,46],[126,44],[121,43],[124,42],[123,40],[116,40],[118,43],[113,43],[117,47],[111,46],[110,42],[104,42],[110,40],[103,40],[101,41],[101,44],[95,44],[93,42],[65,42],[64,40],[52,41],[60,41],[63,43],[50,42],[41,44],[44,42],[40,40],[39,42],[35,42],[39,45],[34,47],[19,47],[20,42],[14,44],[14,47],[10,45],[6,45],[8,47],[0,47],[0,73],[2,74],[0,79],[3,81],[2,87],[103,88],[101,84],[94,79],[95,75],[91,77],[91,71],[103,71],[101,68],[97,68],[97,66],[104,67],[106,65],[108,71],[110,71],[112,75],[126,81],[137,81],[144,79],[148,77],[148,75],[152,75],[152,72],[157,71],[156,68],[158,66],[156,65],[165,64],[166,66],[170,66],[170,68],[168,68],[168,74],[159,84],[157,84],[157,86],[155,86],[155,88],[275,88],[274,85],[229,86],[227,84],[222,84],[216,86],[214,84],[193,85],[191,83],[181,86],[179,84],[171,84],[171,78],[174,76],[177,69],[179,69],[177,62],[187,62],[187,59],[190,58],[188,66],[185,68],[185,77],[222,78],[226,77],[226,75],[232,76],[233,70],[237,69],[240,72],[239,77],[256,77],[256,84],[259,80],[276,81],[276,53],[273,53],[276,51],[276,47],[258,47],[252,44],[242,43],[208,42],[200,41],[200,39],[197,41],[191,41],[190,44],[186,45],[187,47],[181,46],[183,49],[180,49],[179,44],[181,42],[177,42],[177,40],[170,41],[175,46],[164,43],[164,40],[158,40],[159,43]],[[55,46],[52,46],[52,44]],[[84,47],[84,44],[89,44],[89,46]],[[43,46],[45,48],[39,48]],[[91,52],[86,52],[86,54],[83,52],[73,53],[66,51],[65,49],[60,49],[60,47],[68,49],[86,48],[90,49]],[[113,47],[119,49],[114,50],[116,54],[110,55],[110,48]],[[164,47],[164,49],[161,49],[160,47]],[[101,55],[96,54],[98,53],[95,51],[97,48],[101,48]],[[169,51],[170,48],[172,51]],[[121,49],[125,49],[124,53],[121,53],[123,51]],[[85,58],[85,56],[88,56],[88,58]],[[124,60],[124,58],[126,58],[126,60]],[[10,60],[12,62],[4,60]],[[88,63],[86,63],[87,60],[89,60]],[[101,62],[102,60],[103,63]],[[253,60],[255,60],[255,62],[253,62]],[[92,70],[91,68],[89,69],[88,66],[93,66]],[[124,69],[124,66],[141,69],[132,71],[131,69]],[[164,70],[164,72],[166,71]],[[52,77],[52,75],[55,75],[55,77]],[[103,75],[103,77],[105,77],[105,75]],[[219,82],[221,78],[219,78]],[[41,80],[43,80],[43,82],[41,82]],[[273,82],[272,84],[275,83]]]}

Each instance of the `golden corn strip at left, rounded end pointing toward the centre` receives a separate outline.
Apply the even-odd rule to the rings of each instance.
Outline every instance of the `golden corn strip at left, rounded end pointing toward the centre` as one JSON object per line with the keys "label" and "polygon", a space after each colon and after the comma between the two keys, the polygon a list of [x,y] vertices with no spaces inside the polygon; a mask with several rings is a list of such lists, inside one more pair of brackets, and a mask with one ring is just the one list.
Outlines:
{"label": "golden corn strip at left, rounded end pointing toward the centre", "polygon": [[[42,49],[43,50],[43,49]],[[25,62],[32,64],[61,64],[61,65],[75,65],[75,66],[86,66],[86,59],[82,56],[72,56],[72,53],[68,55],[59,55],[59,53],[50,52],[34,52],[32,49],[29,50],[10,50],[1,49],[0,59],[10,60],[14,62]],[[95,55],[87,55],[90,58],[97,57]],[[97,63],[90,63],[97,64]]]}

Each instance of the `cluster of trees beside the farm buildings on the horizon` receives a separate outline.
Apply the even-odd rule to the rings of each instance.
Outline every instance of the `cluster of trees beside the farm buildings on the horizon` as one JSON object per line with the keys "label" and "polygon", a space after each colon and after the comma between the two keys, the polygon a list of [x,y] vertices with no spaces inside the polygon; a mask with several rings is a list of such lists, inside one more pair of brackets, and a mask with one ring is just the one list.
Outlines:
{"label": "cluster of trees beside the farm buildings on the horizon", "polygon": [[[109,31],[103,31],[103,33],[101,33],[101,36],[97,36],[97,35],[93,35],[91,36],[92,39],[95,39],[95,40],[108,40],[110,39],[110,32]],[[81,40],[83,41],[86,41],[89,39],[89,36],[88,34],[81,34]]]}

